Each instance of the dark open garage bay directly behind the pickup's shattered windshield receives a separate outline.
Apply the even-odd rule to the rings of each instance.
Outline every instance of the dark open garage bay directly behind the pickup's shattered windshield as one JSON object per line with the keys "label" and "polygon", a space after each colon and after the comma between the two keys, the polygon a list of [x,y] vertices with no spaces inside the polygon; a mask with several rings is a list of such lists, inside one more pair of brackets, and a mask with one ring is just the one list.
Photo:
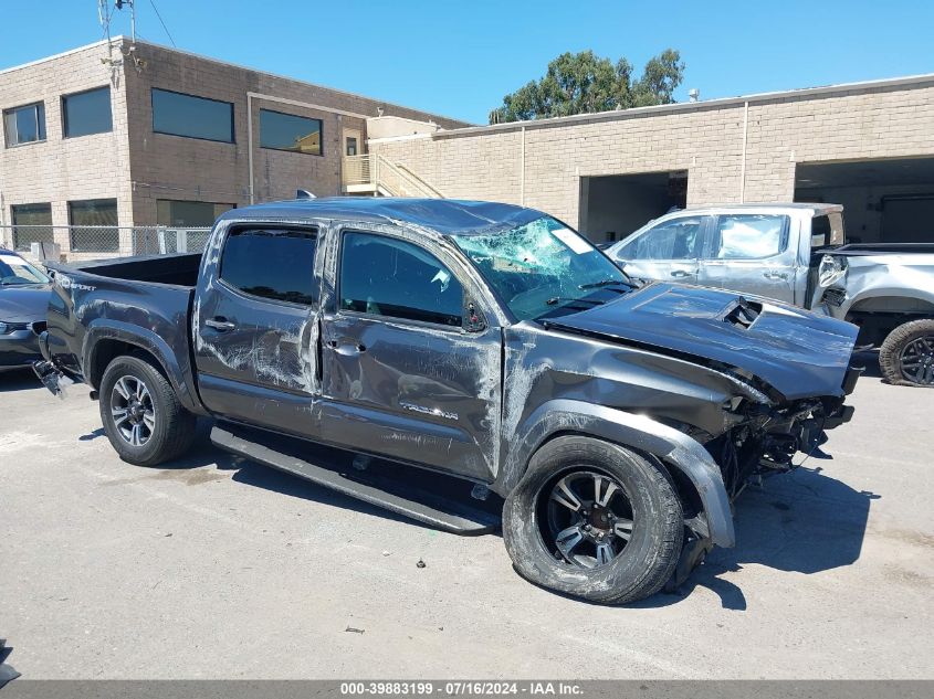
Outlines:
{"label": "dark open garage bay directly behind the pickup's shattered windshield", "polygon": [[619,241],[688,202],[688,171],[580,178],[580,232],[595,243]]}

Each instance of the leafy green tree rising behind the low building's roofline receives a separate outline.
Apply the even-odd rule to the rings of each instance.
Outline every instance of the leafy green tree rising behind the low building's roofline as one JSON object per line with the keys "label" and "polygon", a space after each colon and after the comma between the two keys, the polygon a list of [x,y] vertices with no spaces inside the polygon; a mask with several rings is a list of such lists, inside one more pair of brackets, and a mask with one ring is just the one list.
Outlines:
{"label": "leafy green tree rising behind the low building's roofline", "polygon": [[503,106],[490,113],[490,123],[671,104],[683,78],[684,63],[672,49],[651,59],[637,81],[626,59],[613,65],[592,51],[563,53],[548,64],[541,80],[503,97]]}

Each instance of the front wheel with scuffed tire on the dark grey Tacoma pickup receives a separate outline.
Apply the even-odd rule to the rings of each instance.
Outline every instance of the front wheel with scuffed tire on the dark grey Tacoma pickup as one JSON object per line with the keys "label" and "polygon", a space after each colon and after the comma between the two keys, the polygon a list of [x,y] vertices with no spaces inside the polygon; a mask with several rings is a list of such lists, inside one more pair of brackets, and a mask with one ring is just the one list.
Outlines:
{"label": "front wheel with scuffed tire on the dark grey Tacoma pickup", "polygon": [[664,467],[616,444],[558,437],[533,456],[503,508],[513,564],[533,583],[604,604],[634,602],[671,578],[684,540]]}

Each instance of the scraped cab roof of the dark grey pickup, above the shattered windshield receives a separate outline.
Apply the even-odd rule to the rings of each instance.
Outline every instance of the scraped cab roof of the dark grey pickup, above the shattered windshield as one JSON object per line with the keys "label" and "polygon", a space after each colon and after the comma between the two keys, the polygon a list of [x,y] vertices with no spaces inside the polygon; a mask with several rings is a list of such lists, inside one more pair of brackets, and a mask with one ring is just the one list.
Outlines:
{"label": "scraped cab roof of the dark grey pickup, above the shattered windshield", "polygon": [[225,221],[343,220],[390,223],[429,229],[444,235],[481,235],[513,229],[543,216],[541,211],[490,201],[403,199],[389,197],[328,197],[296,199],[232,209]]}

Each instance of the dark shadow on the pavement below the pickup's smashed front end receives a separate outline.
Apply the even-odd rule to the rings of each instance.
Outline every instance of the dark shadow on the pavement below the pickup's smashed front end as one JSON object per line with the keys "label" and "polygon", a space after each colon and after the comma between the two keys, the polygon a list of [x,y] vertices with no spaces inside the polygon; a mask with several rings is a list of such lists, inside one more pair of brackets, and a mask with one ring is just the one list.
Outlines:
{"label": "dark shadow on the pavement below the pickup's smashed front end", "polygon": [[662,593],[636,607],[676,604],[694,587],[715,592],[726,610],[743,611],[746,597],[736,583],[722,578],[758,564],[810,575],[854,563],[862,550],[869,509],[881,496],[854,490],[823,475],[822,468],[801,467],[794,474],[751,487],[737,504],[736,547],[714,549],[675,593]]}

